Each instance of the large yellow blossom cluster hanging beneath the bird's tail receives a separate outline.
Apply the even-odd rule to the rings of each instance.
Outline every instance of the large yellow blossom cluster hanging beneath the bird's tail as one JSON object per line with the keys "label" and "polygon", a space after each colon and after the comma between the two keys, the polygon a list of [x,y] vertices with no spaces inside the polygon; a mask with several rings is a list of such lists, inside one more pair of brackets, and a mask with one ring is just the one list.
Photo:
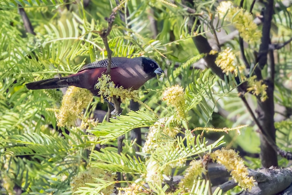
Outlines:
{"label": "large yellow blossom cluster hanging beneath the bird's tail", "polygon": [[63,96],[61,107],[59,109],[47,108],[46,110],[55,112],[58,126],[72,126],[75,120],[81,116],[83,109],[87,107],[92,96],[87,89],[70,86]]}

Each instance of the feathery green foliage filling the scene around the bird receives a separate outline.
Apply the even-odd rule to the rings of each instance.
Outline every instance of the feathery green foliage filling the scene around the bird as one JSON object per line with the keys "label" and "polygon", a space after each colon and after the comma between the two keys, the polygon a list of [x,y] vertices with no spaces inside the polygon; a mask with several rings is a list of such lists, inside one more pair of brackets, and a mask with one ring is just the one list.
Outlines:
{"label": "feathery green foliage filling the scene around the bird", "polygon": [[[110,194],[112,191],[107,189],[115,188],[117,181],[112,180],[120,172],[120,194],[211,194],[209,180],[193,179],[192,187],[186,190],[179,188],[172,179],[183,176],[190,161],[206,160],[219,146],[240,146],[248,153],[260,152],[260,140],[254,131],[258,127],[237,91],[256,71],[258,59],[254,51],[258,51],[259,44],[245,45],[244,54],[251,65],[247,68],[240,54],[239,41],[228,39],[226,35],[244,26],[240,22],[250,24],[250,19],[260,15],[263,8],[260,2],[256,2],[247,20],[244,14],[251,8],[250,1],[244,1],[245,11],[238,11],[235,7],[239,2],[234,1],[234,10],[223,9],[220,14],[219,2],[212,0],[123,1],[107,37],[112,56],[153,58],[165,71],[164,77],[149,80],[139,89],[143,105],[138,111],[129,111],[129,103],[125,102],[121,105],[122,115],[110,118],[110,122],[105,121],[103,115],[95,125],[91,120],[97,118],[95,111],[102,114],[107,111],[106,105],[95,97],[73,127],[57,126],[55,114],[48,110],[60,108],[63,91],[28,90],[25,84],[67,76],[87,63],[107,58],[99,32],[107,27],[106,18],[116,2],[0,2],[1,193],[13,194],[19,189],[23,194],[71,194],[74,181],[76,194]],[[27,33],[20,8],[24,8],[35,35]],[[291,38],[290,12],[291,7],[286,8],[277,1],[272,16],[271,43]],[[242,17],[237,18],[239,15]],[[261,24],[253,26],[255,32],[261,29]],[[246,32],[248,36],[248,29]],[[225,69],[222,80],[206,67],[204,59],[209,51],[201,50],[208,46],[194,46],[194,38],[199,36],[215,42],[210,54],[217,55],[220,45],[222,51],[229,47],[234,52],[237,63],[220,66],[226,68],[235,64]],[[275,115],[275,120],[279,120],[275,123],[276,142],[281,149],[291,151],[291,43],[273,52],[276,63],[274,103],[276,108],[281,108]],[[269,75],[269,68],[261,70],[264,78]],[[186,107],[180,112],[184,117],[180,117],[175,105],[161,101],[163,91],[175,85],[183,87],[182,101]],[[245,94],[245,97],[254,110],[253,105],[260,96]],[[224,130],[246,124],[250,126],[241,130],[241,135],[237,132],[191,132],[196,127]],[[142,146],[139,140],[131,139],[131,130],[135,128],[141,128]],[[123,135],[122,151],[118,151],[118,140]],[[145,141],[150,143],[149,150],[141,150]],[[250,166],[255,168],[259,162],[257,158],[251,159]],[[279,163],[285,166],[288,161],[283,158]],[[86,172],[91,169],[100,170],[102,174],[96,177]],[[80,182],[78,176],[82,174],[90,177],[93,183]],[[222,193],[219,188],[213,192],[214,195]]]}

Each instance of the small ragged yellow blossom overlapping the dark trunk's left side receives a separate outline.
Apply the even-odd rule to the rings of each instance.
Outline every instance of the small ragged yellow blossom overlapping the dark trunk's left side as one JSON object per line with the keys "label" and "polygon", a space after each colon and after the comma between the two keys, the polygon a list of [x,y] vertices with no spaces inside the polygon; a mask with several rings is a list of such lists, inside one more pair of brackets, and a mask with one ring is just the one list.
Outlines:
{"label": "small ragged yellow blossom overlapping the dark trunk's left side", "polygon": [[251,92],[256,96],[260,96],[260,101],[266,101],[268,98],[266,91],[268,86],[263,84],[262,80],[257,81],[256,78],[257,76],[254,75],[247,79],[248,88],[246,90],[247,92]]}

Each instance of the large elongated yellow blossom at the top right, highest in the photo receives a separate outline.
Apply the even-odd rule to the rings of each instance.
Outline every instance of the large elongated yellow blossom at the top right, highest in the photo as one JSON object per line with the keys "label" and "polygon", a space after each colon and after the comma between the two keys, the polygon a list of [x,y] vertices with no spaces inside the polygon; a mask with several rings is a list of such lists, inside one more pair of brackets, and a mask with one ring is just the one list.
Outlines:
{"label": "large elongated yellow blossom at the top right, highest in the photo", "polygon": [[[220,5],[217,7],[217,11],[220,18],[223,18],[228,11],[225,20],[233,22],[234,27],[238,30],[245,42],[260,42],[262,33],[258,29],[256,23],[253,22],[251,13],[242,8],[234,7],[231,1],[221,1]],[[234,17],[235,14],[236,16]]]}

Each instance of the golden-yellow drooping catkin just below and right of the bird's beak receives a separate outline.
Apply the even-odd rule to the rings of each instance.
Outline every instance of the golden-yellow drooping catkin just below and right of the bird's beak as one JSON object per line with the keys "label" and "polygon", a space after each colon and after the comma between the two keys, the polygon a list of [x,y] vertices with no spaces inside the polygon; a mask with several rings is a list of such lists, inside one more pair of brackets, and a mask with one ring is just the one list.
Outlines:
{"label": "golden-yellow drooping catkin just below and right of the bird's beak", "polygon": [[178,85],[168,87],[163,93],[162,93],[162,99],[163,101],[166,101],[166,104],[172,105],[177,109],[177,114],[180,117],[185,118],[186,117],[186,108],[187,104],[185,102],[185,94],[183,92],[183,87],[180,87]]}

